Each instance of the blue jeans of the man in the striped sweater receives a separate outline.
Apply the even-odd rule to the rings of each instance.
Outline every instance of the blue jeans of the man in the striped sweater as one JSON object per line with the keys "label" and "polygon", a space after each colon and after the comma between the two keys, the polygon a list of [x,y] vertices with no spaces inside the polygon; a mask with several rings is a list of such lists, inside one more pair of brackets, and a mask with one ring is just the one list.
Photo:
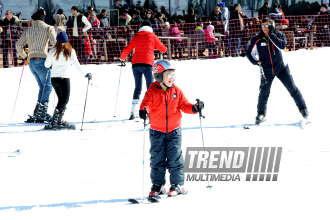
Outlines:
{"label": "blue jeans of the man in the striped sweater", "polygon": [[49,101],[49,95],[50,95],[51,89],[52,89],[51,81],[50,81],[50,72],[51,71],[49,68],[46,68],[44,66],[45,61],[46,60],[30,60],[30,62],[28,64],[28,66],[30,67],[30,70],[39,86],[38,102],[41,99],[43,85],[46,80],[46,75],[48,73],[46,85],[44,86],[44,91],[43,91],[43,95],[42,95],[42,99],[41,99],[42,104]]}

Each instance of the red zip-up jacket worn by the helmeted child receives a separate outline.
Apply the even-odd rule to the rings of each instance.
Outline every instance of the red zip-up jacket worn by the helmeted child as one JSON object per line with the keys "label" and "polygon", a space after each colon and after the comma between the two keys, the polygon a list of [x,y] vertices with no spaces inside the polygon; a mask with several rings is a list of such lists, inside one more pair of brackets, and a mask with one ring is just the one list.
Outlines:
{"label": "red zip-up jacket worn by the helmeted child", "polygon": [[182,91],[174,84],[165,92],[158,82],[150,85],[140,104],[140,110],[146,108],[150,115],[150,128],[162,133],[171,132],[181,126],[181,111],[196,114],[192,111]]}

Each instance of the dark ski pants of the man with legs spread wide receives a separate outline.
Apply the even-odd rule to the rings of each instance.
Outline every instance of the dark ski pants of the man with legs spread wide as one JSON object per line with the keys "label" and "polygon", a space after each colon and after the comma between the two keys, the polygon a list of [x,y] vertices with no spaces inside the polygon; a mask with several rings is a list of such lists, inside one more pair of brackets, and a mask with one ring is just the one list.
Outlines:
{"label": "dark ski pants of the man with legs spread wide", "polygon": [[[305,109],[306,103],[305,100],[302,98],[302,95],[299,89],[295,86],[293,82],[293,77],[290,73],[288,66],[285,67],[281,72],[274,74],[274,75],[266,75],[265,76],[268,83],[261,87],[259,97],[258,97],[258,104],[257,104],[257,112],[260,114],[266,115],[267,109],[267,102],[270,94],[270,87],[273,79],[277,77],[279,81],[284,85],[287,91],[290,93],[291,97],[293,98],[295,105],[298,107],[299,111],[301,109]],[[261,85],[261,83],[260,83]]]}

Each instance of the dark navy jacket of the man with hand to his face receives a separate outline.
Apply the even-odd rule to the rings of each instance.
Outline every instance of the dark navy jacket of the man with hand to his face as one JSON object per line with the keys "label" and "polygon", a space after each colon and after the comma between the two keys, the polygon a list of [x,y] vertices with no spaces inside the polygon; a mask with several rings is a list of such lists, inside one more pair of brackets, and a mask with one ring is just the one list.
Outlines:
{"label": "dark navy jacket of the man with hand to his face", "polygon": [[[272,75],[281,72],[285,68],[281,51],[286,47],[286,37],[282,32],[271,33],[265,37],[260,31],[255,36],[246,50],[247,59],[253,64],[261,66],[265,75]],[[255,53],[258,53],[256,57]]]}

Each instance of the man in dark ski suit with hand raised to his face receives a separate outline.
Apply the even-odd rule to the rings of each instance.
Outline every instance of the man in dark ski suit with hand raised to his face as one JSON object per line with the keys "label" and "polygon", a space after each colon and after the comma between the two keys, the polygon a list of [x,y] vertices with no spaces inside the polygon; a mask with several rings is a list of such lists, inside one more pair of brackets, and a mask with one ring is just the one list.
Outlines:
{"label": "man in dark ski suit with hand raised to his face", "polygon": [[[281,50],[284,50],[286,47],[285,35],[282,32],[276,31],[273,23],[273,20],[268,17],[262,20],[262,30],[251,40],[246,51],[246,57],[253,65],[261,64],[264,76],[268,81],[268,83],[259,87],[260,93],[255,124],[260,124],[265,120],[270,87],[275,77],[281,81],[290,93],[299,112],[307,122],[308,110],[306,103],[293,82],[288,65],[285,65],[283,62]],[[258,54],[258,58],[256,57],[256,53]]]}

